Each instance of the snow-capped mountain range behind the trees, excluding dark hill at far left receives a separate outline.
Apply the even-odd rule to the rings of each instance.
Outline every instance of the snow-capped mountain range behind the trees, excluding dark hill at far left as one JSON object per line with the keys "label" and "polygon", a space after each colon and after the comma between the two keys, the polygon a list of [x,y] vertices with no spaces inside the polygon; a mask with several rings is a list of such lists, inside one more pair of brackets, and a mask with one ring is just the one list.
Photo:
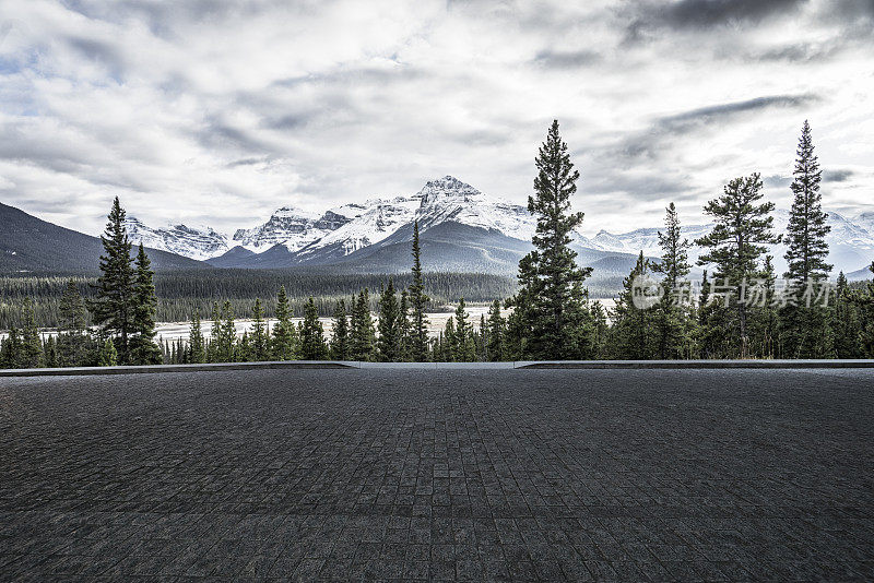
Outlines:
{"label": "snow-capped mountain range behind the trees, excluding dark hill at far left", "polygon": [[[591,216],[587,221],[591,221]],[[428,181],[415,194],[371,199],[312,213],[283,206],[261,225],[237,229],[232,236],[209,227],[174,225],[150,228],[129,218],[131,237],[156,249],[206,261],[222,267],[287,267],[343,265],[361,271],[405,271],[413,221],[418,221],[425,264],[440,271],[483,271],[513,274],[519,258],[531,249],[535,221],[528,209],[489,197],[461,180],[446,176]],[[601,230],[587,237],[574,233],[572,247],[580,261],[605,274],[627,274],[641,250],[661,254],[653,226],[628,233]],[[786,229],[789,211],[775,213],[778,233]],[[874,258],[874,212],[848,218],[829,212],[830,261],[835,271],[859,272]],[[712,224],[684,225],[689,240],[710,231]],[[689,250],[692,260],[701,250]],[[773,246],[778,272],[786,269],[782,246]],[[430,261],[427,261],[430,260]]]}

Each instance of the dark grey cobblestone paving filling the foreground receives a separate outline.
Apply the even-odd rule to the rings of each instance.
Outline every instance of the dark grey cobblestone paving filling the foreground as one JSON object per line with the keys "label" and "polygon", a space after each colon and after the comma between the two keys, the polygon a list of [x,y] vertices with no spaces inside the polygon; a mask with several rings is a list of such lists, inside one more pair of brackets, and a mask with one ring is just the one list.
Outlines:
{"label": "dark grey cobblestone paving filling the foreground", "polygon": [[874,580],[874,373],[0,379],[0,579]]}

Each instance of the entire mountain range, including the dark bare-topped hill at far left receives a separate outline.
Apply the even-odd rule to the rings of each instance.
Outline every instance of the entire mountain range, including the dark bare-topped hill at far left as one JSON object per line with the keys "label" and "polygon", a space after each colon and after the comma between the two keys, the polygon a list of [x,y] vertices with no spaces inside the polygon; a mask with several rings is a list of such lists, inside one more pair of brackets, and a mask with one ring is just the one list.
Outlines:
{"label": "entire mountain range, including the dark bare-topped hill at far left", "polygon": [[[597,218],[587,216],[587,224]],[[637,254],[661,254],[658,233],[663,217],[650,227],[614,234],[600,230],[587,237],[572,234],[571,247],[581,264],[593,267],[590,289],[606,293],[622,285]],[[158,269],[239,267],[284,269],[319,266],[342,272],[397,273],[410,269],[413,222],[418,221],[422,260],[427,271],[465,271],[515,276],[519,259],[531,249],[536,222],[525,206],[489,197],[451,176],[428,181],[418,192],[391,199],[370,199],[312,213],[283,206],[264,223],[222,234],[204,226],[151,227],[128,216],[133,242],[149,248]],[[783,231],[789,212],[775,213]],[[874,259],[874,212],[848,218],[829,212],[827,242],[835,272],[849,278],[870,278]],[[0,204],[0,271],[94,271],[99,239],[40,221]],[[712,225],[684,225],[694,240]],[[701,250],[693,247],[694,261]],[[775,266],[782,273],[782,246],[773,246]],[[700,273],[695,270],[695,273]]]}

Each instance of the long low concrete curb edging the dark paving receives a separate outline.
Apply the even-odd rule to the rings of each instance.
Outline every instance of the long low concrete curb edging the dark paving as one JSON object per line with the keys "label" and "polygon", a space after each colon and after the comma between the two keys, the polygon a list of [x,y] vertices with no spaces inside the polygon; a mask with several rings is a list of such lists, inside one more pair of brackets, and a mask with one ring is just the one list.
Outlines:
{"label": "long low concrete curb edging the dark paving", "polygon": [[874,359],[858,360],[522,360],[517,362],[358,362],[349,360],[281,360],[211,365],[153,365],[145,367],[82,367],[0,369],[2,377],[82,377],[94,374],[150,374],[258,369],[395,369],[395,370],[508,370],[508,369],[853,369],[874,368]]}

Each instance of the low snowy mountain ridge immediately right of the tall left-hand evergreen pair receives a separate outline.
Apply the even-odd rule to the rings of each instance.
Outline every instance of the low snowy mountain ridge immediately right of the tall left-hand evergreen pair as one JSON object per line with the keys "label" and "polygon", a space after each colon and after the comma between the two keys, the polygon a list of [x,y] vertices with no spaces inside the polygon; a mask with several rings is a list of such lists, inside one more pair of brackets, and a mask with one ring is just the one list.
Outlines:
{"label": "low snowy mountain ridge immediately right of the tall left-hand evergreen pair", "polygon": [[227,238],[210,227],[170,225],[152,228],[132,216],[127,217],[125,226],[134,245],[142,242],[144,247],[169,251],[199,261],[222,255],[229,249]]}

